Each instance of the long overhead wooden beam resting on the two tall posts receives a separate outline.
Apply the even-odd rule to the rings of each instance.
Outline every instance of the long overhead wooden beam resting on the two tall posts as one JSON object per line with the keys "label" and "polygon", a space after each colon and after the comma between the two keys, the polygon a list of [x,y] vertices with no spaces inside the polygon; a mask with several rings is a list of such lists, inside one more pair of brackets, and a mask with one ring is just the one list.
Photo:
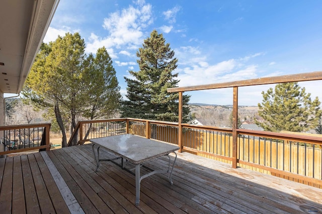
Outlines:
{"label": "long overhead wooden beam resting on the two tall posts", "polygon": [[207,85],[168,88],[168,92],[198,91],[198,90],[207,90],[207,89],[267,85],[267,84],[276,84],[276,83],[302,82],[302,81],[313,81],[313,80],[322,80],[322,71],[302,73],[302,74],[283,75],[283,76],[277,76],[277,77],[263,77],[258,79],[240,80],[240,81],[226,82],[226,83],[214,83],[214,84],[207,84]]}

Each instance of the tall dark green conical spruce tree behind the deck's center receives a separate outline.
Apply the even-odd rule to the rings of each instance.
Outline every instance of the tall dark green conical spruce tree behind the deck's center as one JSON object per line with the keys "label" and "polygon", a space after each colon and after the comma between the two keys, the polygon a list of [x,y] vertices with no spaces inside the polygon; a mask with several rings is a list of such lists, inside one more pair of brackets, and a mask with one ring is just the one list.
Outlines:
{"label": "tall dark green conical spruce tree behind the deck's center", "polygon": [[[128,100],[122,102],[122,117],[133,117],[163,121],[178,121],[178,93],[167,93],[168,88],[177,87],[178,59],[162,34],[152,31],[142,48],[136,53],[139,71],[129,71],[133,78],[125,77]],[[190,96],[183,96],[184,121],[188,120],[190,109],[186,106]]]}

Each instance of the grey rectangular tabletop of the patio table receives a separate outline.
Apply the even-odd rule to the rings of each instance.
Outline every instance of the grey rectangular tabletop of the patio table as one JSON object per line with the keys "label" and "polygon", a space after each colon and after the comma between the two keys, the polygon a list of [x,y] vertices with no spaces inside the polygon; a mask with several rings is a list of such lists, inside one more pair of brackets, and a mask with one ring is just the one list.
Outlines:
{"label": "grey rectangular tabletop of the patio table", "polygon": [[90,140],[107,150],[138,164],[179,150],[173,144],[164,143],[132,134],[102,137]]}

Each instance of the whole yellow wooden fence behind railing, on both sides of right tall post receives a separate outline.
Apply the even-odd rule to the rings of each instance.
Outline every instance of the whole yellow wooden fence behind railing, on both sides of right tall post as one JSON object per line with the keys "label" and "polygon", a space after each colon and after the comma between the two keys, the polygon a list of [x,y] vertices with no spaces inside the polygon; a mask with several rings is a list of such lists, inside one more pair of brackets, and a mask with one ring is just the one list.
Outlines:
{"label": "whole yellow wooden fence behind railing, on both sides of right tall post", "polygon": [[[183,134],[183,141],[186,151],[231,163],[232,135],[229,133],[200,129],[189,130]],[[238,135],[237,159],[237,165],[240,167],[322,187],[314,180],[307,182],[306,179],[299,179],[296,176],[322,179],[322,150],[314,144],[289,143],[276,139],[256,139]],[[283,175],[282,171],[292,174]]]}

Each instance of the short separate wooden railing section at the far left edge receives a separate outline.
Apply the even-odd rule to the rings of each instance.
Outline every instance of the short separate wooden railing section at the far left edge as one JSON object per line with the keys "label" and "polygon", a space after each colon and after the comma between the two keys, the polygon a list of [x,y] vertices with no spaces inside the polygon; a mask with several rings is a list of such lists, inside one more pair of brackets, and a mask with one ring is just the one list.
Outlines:
{"label": "short separate wooden railing section at the far left edge", "polygon": [[0,126],[0,155],[30,150],[49,150],[50,123]]}

